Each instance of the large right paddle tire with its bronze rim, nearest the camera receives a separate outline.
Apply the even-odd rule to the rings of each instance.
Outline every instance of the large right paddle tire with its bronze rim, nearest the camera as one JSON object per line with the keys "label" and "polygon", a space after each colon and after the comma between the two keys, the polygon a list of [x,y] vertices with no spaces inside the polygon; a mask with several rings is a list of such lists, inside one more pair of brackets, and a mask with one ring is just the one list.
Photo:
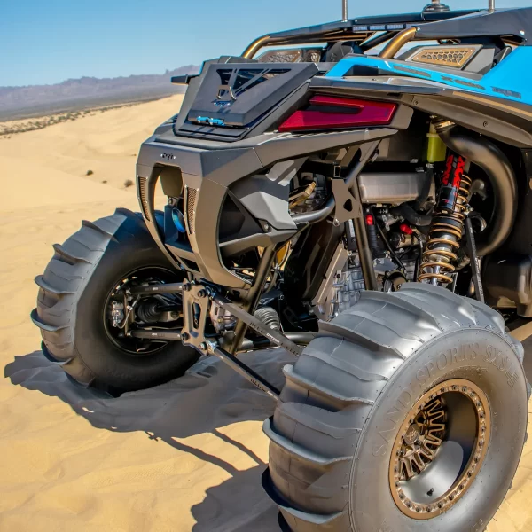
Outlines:
{"label": "large right paddle tire with its bronze rim, nearest the camera", "polygon": [[477,301],[418,283],[364,292],[285,367],[264,423],[281,528],[484,530],[526,440],[522,357]]}

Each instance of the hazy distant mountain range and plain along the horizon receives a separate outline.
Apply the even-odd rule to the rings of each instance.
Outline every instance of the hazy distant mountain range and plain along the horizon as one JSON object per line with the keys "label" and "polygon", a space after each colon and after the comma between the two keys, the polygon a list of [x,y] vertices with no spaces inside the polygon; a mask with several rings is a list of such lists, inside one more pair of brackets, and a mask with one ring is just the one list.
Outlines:
{"label": "hazy distant mountain range and plain along the horizon", "polygon": [[0,87],[0,121],[163,98],[184,92],[183,86],[170,82],[173,75],[195,74],[199,69],[188,65],[165,74],[82,77],[56,85]]}

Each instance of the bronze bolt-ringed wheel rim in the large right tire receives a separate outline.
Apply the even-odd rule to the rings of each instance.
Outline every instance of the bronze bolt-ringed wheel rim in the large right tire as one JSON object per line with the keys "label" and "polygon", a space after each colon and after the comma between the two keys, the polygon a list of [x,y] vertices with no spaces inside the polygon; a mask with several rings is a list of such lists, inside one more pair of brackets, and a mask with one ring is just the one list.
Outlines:
{"label": "bronze bolt-ringed wheel rim in the large right tire", "polygon": [[465,379],[432,387],[405,417],[392,448],[395,504],[413,519],[447,512],[480,471],[489,446],[487,396]]}

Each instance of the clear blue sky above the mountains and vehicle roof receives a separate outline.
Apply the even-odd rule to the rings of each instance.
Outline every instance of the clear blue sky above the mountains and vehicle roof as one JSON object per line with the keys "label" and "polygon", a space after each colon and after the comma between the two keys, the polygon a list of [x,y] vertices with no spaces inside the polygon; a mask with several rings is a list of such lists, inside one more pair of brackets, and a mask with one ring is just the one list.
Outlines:
{"label": "clear blue sky above the mountains and vehicle roof", "polygon": [[[349,17],[418,12],[424,0],[349,0]],[[455,9],[486,2],[448,0]],[[529,0],[497,0],[525,6]],[[239,55],[255,36],[339,20],[341,0],[0,0],[0,86],[162,74]]]}

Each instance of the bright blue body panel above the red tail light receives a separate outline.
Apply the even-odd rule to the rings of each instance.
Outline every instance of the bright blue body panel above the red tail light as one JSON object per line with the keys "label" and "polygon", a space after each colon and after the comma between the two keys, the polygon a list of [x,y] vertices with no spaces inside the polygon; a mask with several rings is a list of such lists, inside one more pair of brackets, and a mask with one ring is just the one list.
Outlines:
{"label": "bright blue body panel above the red tail light", "polygon": [[486,96],[512,100],[532,105],[532,47],[520,46],[492,68],[481,79],[475,80],[457,73],[431,70],[419,63],[381,59],[376,56],[356,56],[341,59],[326,74],[327,77],[342,77],[352,66],[372,66],[390,74],[415,77],[438,82],[452,89],[467,90]]}

